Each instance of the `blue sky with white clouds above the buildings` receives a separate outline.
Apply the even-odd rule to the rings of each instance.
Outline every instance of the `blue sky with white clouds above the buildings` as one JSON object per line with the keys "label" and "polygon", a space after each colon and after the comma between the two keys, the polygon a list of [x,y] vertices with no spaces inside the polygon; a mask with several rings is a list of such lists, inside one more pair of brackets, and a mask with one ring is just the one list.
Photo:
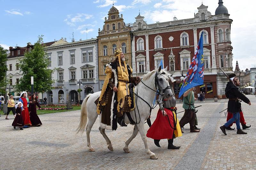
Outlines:
{"label": "blue sky with white clouds above the buildings", "polygon": [[[202,2],[208,11],[215,14],[218,0],[0,0],[0,45],[27,46],[34,44],[38,35],[44,35],[44,42],[67,38],[91,39],[98,36],[104,18],[114,6],[123,14],[126,24],[135,22],[135,17],[144,16],[147,24],[157,21],[172,21],[194,18]],[[233,67],[238,61],[241,70],[256,66],[256,18],[255,0],[223,0],[231,24],[231,42],[234,54]],[[87,35],[86,35],[87,28]]]}

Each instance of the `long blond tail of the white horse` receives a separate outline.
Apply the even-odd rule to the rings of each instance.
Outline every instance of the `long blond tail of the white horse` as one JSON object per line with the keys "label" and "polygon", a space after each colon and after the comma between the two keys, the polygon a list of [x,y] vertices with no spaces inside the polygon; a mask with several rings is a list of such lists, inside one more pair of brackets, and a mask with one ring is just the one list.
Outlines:
{"label": "long blond tail of the white horse", "polygon": [[76,129],[76,133],[79,133],[81,132],[81,134],[84,133],[84,128],[87,124],[87,108],[86,108],[86,103],[87,103],[87,100],[88,98],[91,96],[91,94],[87,95],[85,98],[84,98],[84,101],[81,105],[81,115],[80,115],[80,123]]}

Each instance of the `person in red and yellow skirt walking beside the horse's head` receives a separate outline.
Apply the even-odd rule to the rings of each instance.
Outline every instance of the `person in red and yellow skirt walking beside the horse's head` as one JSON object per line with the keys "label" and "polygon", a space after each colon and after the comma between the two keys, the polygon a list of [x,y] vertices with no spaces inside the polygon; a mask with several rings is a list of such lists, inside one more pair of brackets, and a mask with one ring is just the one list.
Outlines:
{"label": "person in red and yellow skirt walking beside the horse's head", "polygon": [[173,138],[182,136],[180,123],[175,113],[177,107],[175,107],[176,99],[172,88],[172,81],[175,82],[175,79],[168,77],[173,96],[170,100],[166,100],[167,97],[163,96],[164,101],[159,104],[156,120],[148,129],[147,137],[154,139],[154,143],[158,147],[161,147],[159,145],[161,139],[168,139],[168,149],[180,149],[180,146],[173,145]]}

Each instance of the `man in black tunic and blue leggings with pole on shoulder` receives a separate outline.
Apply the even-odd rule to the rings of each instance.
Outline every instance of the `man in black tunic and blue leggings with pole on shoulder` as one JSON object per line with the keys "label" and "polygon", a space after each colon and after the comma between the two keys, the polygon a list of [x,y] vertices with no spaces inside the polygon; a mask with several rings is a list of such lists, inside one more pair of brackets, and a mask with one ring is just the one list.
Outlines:
{"label": "man in black tunic and blue leggings with pole on shoulder", "polygon": [[[227,74],[223,70],[222,72],[227,76]],[[233,122],[236,122],[236,129],[237,129],[236,133],[247,134],[246,132],[242,131],[240,127],[241,103],[239,102],[239,99],[241,99],[242,101],[244,101],[249,105],[251,105],[251,102],[247,97],[244,96],[243,93],[239,91],[237,86],[239,86],[240,82],[236,77],[236,74],[231,73],[227,77],[229,79],[229,82],[227,83],[227,86],[225,89],[225,95],[228,98],[228,112],[232,113],[233,117],[229,119],[223,126],[220,126],[220,129],[224,133],[224,135],[227,135],[226,129],[229,128],[230,124],[233,124]]]}

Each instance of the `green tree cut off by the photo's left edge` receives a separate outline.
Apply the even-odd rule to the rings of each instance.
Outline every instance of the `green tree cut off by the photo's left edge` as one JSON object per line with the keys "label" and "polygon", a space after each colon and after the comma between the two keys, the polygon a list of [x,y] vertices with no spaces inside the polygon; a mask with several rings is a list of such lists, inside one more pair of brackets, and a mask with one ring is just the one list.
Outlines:
{"label": "green tree cut off by the photo's left edge", "polygon": [[5,74],[7,69],[6,61],[7,61],[7,50],[0,47],[0,93],[3,95],[5,94],[5,87],[6,87],[6,78]]}

